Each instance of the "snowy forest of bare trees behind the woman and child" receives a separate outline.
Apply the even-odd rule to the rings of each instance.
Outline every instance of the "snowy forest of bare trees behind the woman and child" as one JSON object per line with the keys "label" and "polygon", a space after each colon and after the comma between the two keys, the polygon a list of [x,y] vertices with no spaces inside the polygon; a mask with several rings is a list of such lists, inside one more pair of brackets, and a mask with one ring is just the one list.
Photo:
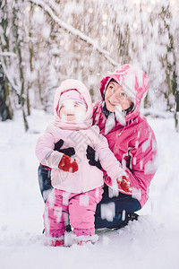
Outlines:
{"label": "snowy forest of bare trees behind the woman and child", "polygon": [[145,113],[170,111],[179,131],[177,0],[1,0],[0,119],[53,113],[56,87],[79,79],[100,100],[99,82],[119,65],[149,76]]}

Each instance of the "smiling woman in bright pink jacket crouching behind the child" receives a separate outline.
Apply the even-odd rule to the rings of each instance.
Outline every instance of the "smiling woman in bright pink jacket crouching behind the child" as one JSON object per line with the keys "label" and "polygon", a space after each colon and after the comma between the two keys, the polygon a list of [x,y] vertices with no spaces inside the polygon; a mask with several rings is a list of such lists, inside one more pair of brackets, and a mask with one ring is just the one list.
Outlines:
{"label": "smiling woman in bright pink jacket crouching behind the child", "polygon": [[[113,191],[111,178],[104,172],[104,194],[97,206],[95,228],[121,228],[137,217],[134,212],[147,202],[149,185],[156,172],[157,143],[147,119],[141,116],[141,100],[148,89],[149,79],[132,65],[123,65],[107,74],[100,84],[102,100],[93,109],[93,125],[107,138],[110,150],[122,163],[132,187],[132,194]],[[60,141],[56,150],[60,151]],[[70,154],[71,149],[66,149]],[[67,152],[64,152],[67,154]],[[90,165],[101,169],[95,152],[88,147]],[[39,168],[39,186],[44,200],[50,190],[50,175]],[[48,173],[48,175],[47,175]],[[47,177],[48,176],[48,177]],[[110,212],[110,213],[108,213]]]}

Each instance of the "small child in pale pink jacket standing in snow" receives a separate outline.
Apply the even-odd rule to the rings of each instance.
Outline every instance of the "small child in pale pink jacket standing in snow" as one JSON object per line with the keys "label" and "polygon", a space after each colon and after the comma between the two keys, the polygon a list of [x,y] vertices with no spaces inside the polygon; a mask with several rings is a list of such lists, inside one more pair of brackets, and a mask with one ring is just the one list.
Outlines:
{"label": "small child in pale pink jacket standing in snow", "polygon": [[[44,212],[46,235],[51,246],[64,246],[65,226],[70,219],[77,244],[95,241],[94,215],[103,194],[103,171],[90,166],[86,150],[91,146],[114,187],[131,194],[126,174],[107,139],[92,126],[93,107],[90,93],[76,80],[62,82],[55,92],[55,122],[38,139],[36,154],[42,165],[52,169],[54,187]],[[62,148],[73,147],[74,158],[55,151],[55,143],[64,140]],[[118,191],[117,191],[118,193]]]}

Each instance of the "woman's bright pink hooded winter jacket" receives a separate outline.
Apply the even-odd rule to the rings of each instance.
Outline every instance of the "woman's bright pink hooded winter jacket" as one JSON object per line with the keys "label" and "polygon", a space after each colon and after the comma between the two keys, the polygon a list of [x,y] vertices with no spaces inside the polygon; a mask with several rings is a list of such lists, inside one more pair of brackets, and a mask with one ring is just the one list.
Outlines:
{"label": "woman's bright pink hooded winter jacket", "polygon": [[[157,170],[157,142],[147,119],[141,116],[141,99],[148,88],[149,79],[142,71],[136,71],[131,65],[123,65],[115,73],[107,74],[101,81],[100,92],[103,99],[107,83],[114,78],[123,85],[124,91],[131,96],[134,109],[125,116],[125,124],[115,120],[115,126],[106,134],[107,117],[102,109],[102,100],[94,106],[93,124],[100,134],[107,137],[109,148],[123,165],[132,186],[132,196],[141,203],[149,197],[149,185]],[[105,175],[105,183],[111,186],[112,180]]]}

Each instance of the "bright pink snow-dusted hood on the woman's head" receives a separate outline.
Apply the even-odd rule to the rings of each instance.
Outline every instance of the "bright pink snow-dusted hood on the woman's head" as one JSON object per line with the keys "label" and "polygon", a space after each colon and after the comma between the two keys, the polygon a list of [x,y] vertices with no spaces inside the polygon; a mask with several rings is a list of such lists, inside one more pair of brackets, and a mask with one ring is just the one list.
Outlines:
{"label": "bright pink snow-dusted hood on the woman's head", "polygon": [[115,79],[121,86],[123,86],[124,92],[129,96],[134,104],[135,113],[139,113],[141,100],[145,98],[149,78],[147,74],[132,65],[122,65],[115,70],[114,73],[107,74],[100,82],[100,93],[102,99],[107,89],[107,84],[111,79]]}

